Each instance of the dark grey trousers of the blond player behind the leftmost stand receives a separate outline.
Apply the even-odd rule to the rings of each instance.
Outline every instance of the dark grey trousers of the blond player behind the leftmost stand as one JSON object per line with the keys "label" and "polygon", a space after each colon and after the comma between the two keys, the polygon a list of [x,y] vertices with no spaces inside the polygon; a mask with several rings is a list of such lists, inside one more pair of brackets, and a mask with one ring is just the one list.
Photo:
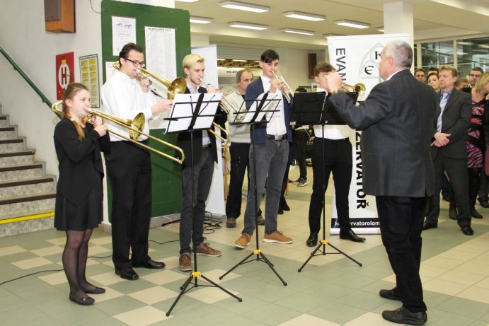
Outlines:
{"label": "dark grey trousers of the blond player behind the leftmost stand", "polygon": [[209,147],[202,149],[199,160],[194,161],[193,180],[192,166],[185,165],[182,168],[183,201],[180,213],[180,255],[192,251],[190,248],[192,241],[192,181],[195,199],[195,248],[204,241],[205,201],[209,196],[213,174],[214,158]]}

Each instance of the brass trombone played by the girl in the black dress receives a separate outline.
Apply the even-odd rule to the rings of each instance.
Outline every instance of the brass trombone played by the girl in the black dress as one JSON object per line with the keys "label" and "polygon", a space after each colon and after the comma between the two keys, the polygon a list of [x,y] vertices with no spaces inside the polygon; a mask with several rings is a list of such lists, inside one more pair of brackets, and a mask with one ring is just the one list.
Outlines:
{"label": "brass trombone played by the girl in the black dress", "polygon": [[[61,117],[63,116],[63,112],[62,112],[62,110],[58,109],[58,106],[61,105],[62,103],[63,103],[63,101],[60,100],[56,103],[53,103],[53,105],[51,105],[51,110]],[[170,143],[163,141],[159,138],[156,138],[155,136],[151,136],[150,134],[146,134],[145,132],[142,131],[144,129],[144,124],[146,124],[146,117],[144,117],[144,113],[140,112],[136,115],[136,117],[134,117],[134,119],[130,120],[130,119],[122,119],[120,117],[115,117],[114,115],[109,115],[108,113],[105,113],[105,112],[102,112],[99,110],[88,109],[88,115],[84,119],[85,122],[91,123],[90,118],[93,117],[94,115],[96,115],[98,117],[102,117],[103,119],[107,119],[109,121],[114,122],[115,124],[119,124],[120,126],[127,128],[129,131],[129,135],[130,135],[130,137],[128,138],[126,136],[122,136],[122,134],[114,132],[113,130],[110,130],[110,129],[108,130],[109,132],[115,134],[116,136],[120,136],[120,138],[122,138],[122,139],[126,139],[127,141],[130,141],[136,145],[142,146],[145,149],[148,149],[149,151],[153,151],[154,153],[159,154],[160,156],[169,158],[178,164],[182,164],[183,161],[185,161],[185,154],[183,153],[183,150],[180,149],[180,147],[175,146],[173,144],[170,144]],[[144,135],[148,138],[151,138],[151,139],[154,139],[155,141],[158,141],[159,143],[161,143],[165,146],[170,147],[171,149],[175,149],[176,151],[180,152],[181,158],[173,157],[171,155],[168,155],[167,153],[163,153],[162,151],[159,151],[157,149],[154,149],[152,147],[149,147],[149,146],[146,146],[142,143],[139,143],[138,141],[136,141],[136,139],[140,135]]]}

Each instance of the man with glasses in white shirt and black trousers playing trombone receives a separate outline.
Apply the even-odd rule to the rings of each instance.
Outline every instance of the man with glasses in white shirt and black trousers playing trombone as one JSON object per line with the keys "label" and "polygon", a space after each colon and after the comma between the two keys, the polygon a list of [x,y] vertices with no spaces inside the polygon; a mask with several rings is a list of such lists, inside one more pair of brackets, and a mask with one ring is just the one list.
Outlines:
{"label": "man with glasses in white shirt and black trousers playing trombone", "polygon": [[[127,43],[119,54],[120,69],[102,87],[103,111],[116,117],[133,119],[144,113],[146,120],[157,113],[171,110],[173,100],[156,102],[149,92],[149,81],[140,76],[144,67],[143,49]],[[107,121],[110,129],[130,138],[127,128]],[[144,132],[149,133],[145,124]],[[147,137],[138,141],[146,144]],[[160,269],[148,255],[149,220],[151,218],[151,161],[149,151],[115,134],[110,134],[112,150],[105,163],[112,187],[112,246],[115,274],[122,279],[136,280],[132,267]],[[131,257],[129,253],[132,252]]]}

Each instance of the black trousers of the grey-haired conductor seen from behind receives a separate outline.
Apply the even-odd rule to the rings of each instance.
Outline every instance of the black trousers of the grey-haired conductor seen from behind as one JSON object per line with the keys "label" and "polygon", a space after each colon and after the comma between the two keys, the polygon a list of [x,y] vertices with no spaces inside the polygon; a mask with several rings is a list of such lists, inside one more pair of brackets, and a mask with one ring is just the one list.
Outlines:
{"label": "black trousers of the grey-haired conductor seen from behind", "polygon": [[376,196],[382,243],[396,274],[403,306],[411,313],[426,311],[420,279],[421,231],[426,202],[426,197]]}

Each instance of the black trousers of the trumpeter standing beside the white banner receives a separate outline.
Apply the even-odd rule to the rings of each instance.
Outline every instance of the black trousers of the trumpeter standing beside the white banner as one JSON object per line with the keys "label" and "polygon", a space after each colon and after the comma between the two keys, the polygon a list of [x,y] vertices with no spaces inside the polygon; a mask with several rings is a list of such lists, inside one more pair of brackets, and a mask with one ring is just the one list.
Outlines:
{"label": "black trousers of the trumpeter standing beside the white banner", "polygon": [[[324,139],[324,158],[322,156],[322,138],[316,137],[313,143],[312,170],[313,185],[309,204],[309,231],[318,233],[321,229],[324,193],[328,189],[329,175],[333,172],[336,195],[336,211],[340,232],[350,230],[350,209],[348,193],[352,180],[352,144],[349,139]],[[324,168],[324,173],[323,173]],[[323,189],[324,179],[324,189]]]}

